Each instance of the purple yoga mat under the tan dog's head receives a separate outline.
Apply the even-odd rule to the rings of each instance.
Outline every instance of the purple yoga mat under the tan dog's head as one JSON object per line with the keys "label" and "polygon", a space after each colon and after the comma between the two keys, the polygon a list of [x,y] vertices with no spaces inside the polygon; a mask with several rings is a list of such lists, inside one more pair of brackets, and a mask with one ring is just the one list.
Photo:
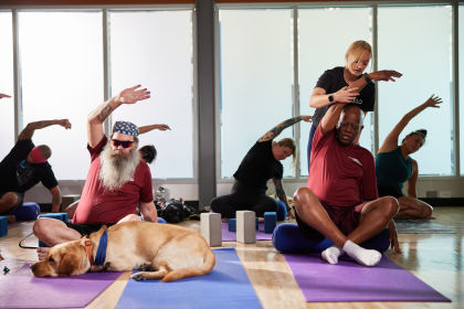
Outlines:
{"label": "purple yoga mat under the tan dog's head", "polygon": [[123,274],[36,278],[29,265],[0,279],[0,308],[85,307]]}

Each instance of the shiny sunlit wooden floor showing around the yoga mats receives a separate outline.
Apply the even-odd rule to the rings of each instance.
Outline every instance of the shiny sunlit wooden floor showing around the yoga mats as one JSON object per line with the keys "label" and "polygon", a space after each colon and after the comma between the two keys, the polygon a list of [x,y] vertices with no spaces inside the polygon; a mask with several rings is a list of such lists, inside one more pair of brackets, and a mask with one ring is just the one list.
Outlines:
{"label": "shiny sunlit wooden floor showing around the yoga mats", "polygon": [[[387,255],[452,299],[451,303],[305,302],[285,258],[273,248],[271,242],[257,242],[250,245],[231,242],[223,243],[223,247],[236,248],[263,308],[464,308],[464,276],[462,271],[464,266],[462,255],[464,207],[435,207],[434,215],[436,223],[452,227],[455,234],[400,234],[403,253],[399,255],[389,251]],[[183,222],[182,225],[199,230],[198,221]],[[24,249],[18,246],[19,242],[31,232],[31,222],[9,225],[8,236],[0,237],[0,251],[4,257],[4,260],[0,262],[0,270],[7,266],[11,271],[14,271],[25,262],[36,260],[34,249]],[[30,236],[25,239],[24,245],[35,246],[36,239]],[[7,276],[1,275],[0,280]],[[128,273],[123,274],[87,308],[114,308],[127,284],[128,276]]]}

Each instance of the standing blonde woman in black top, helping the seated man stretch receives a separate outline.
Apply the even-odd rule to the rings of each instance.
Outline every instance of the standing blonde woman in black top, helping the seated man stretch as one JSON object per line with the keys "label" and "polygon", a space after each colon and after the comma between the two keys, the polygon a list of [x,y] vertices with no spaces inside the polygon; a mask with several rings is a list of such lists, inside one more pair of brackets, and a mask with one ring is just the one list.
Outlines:
{"label": "standing blonde woman in black top, helping the seated man stretch", "polygon": [[348,47],[346,65],[327,70],[320,75],[309,97],[309,106],[316,108],[308,140],[308,168],[314,134],[327,109],[335,103],[355,103],[367,114],[372,111],[376,85],[372,81],[392,81],[401,77],[396,71],[363,73],[372,58],[372,47],[366,41],[356,41]]}

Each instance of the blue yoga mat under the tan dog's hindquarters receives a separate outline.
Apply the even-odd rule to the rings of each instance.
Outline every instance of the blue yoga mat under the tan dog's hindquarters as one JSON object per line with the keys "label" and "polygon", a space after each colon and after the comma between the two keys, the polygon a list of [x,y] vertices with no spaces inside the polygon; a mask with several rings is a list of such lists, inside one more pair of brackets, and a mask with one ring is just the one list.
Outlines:
{"label": "blue yoga mat under the tan dog's hindquarters", "polygon": [[214,249],[214,269],[172,283],[129,279],[116,308],[261,308],[234,248]]}

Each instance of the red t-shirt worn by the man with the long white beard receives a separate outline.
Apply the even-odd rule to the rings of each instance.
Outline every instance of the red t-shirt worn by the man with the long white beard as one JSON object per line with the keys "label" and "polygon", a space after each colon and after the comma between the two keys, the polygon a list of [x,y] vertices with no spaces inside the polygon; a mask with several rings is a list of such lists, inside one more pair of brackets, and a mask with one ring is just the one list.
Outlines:
{"label": "red t-shirt worn by the man with the long white beard", "polygon": [[134,180],[115,191],[103,188],[102,181],[98,180],[99,153],[107,140],[104,136],[95,148],[87,145],[91,152],[91,168],[74,213],[75,224],[116,223],[128,214],[136,214],[136,207],[140,202],[154,201],[150,169],[143,161],[135,170]]}

